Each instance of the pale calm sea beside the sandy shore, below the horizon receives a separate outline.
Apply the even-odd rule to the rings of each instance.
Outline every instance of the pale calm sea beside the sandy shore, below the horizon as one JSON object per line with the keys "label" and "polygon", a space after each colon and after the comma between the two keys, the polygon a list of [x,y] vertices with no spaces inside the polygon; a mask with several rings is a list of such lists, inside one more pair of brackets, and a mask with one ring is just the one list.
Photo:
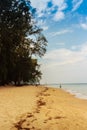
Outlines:
{"label": "pale calm sea beside the sandy shore, below the horizon", "polygon": [[[48,86],[59,88],[60,84],[50,84]],[[62,89],[74,94],[78,98],[87,99],[87,83],[61,84]]]}

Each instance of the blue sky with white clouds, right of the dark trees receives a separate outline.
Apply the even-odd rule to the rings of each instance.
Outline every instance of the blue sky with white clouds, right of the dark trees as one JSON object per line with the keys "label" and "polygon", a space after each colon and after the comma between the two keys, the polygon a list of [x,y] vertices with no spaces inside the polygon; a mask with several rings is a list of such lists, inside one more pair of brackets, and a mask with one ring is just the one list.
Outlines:
{"label": "blue sky with white clouds, right of the dark trees", "polygon": [[42,83],[87,82],[87,0],[31,0],[48,40]]}

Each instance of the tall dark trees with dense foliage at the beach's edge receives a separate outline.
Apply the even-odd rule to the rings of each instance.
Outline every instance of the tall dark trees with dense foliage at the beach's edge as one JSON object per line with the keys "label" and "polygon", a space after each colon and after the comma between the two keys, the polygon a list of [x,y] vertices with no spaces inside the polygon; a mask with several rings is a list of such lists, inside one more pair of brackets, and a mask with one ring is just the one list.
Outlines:
{"label": "tall dark trees with dense foliage at the beach's edge", "polygon": [[29,0],[0,0],[0,84],[36,83],[41,78],[38,59],[47,40],[34,22]]}

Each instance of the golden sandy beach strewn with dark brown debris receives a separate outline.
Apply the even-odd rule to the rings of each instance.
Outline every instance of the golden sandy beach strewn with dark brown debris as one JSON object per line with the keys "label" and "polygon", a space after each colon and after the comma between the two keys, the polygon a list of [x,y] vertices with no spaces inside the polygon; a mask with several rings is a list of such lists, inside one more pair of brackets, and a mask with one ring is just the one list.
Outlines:
{"label": "golden sandy beach strewn with dark brown debris", "polygon": [[87,130],[87,100],[56,88],[0,87],[0,130]]}

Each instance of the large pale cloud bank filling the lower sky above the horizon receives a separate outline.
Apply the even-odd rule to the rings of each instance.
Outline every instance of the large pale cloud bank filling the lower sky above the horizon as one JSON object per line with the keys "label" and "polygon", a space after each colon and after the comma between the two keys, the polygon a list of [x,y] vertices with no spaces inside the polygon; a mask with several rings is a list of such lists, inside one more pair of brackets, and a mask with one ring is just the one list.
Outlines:
{"label": "large pale cloud bank filling the lower sky above the horizon", "polygon": [[87,82],[87,44],[48,52],[42,64],[43,83]]}

